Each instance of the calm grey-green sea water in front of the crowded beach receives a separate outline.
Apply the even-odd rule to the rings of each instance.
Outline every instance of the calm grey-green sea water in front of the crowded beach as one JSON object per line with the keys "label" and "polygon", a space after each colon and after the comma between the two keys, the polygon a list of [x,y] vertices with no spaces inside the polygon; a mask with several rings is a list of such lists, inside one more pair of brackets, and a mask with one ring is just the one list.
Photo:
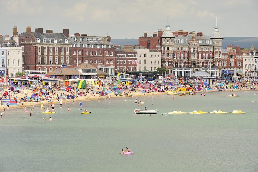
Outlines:
{"label": "calm grey-green sea water in front of the crowded beach", "polygon": [[[91,114],[80,114],[78,102],[67,103],[69,112],[56,104],[56,114],[36,107],[32,117],[29,108],[6,110],[0,171],[258,171],[258,95],[235,93],[140,97],[141,109],[159,110],[151,116],[134,114],[127,97],[83,102]],[[166,114],[173,110],[246,113]],[[119,154],[126,146],[133,155]]]}

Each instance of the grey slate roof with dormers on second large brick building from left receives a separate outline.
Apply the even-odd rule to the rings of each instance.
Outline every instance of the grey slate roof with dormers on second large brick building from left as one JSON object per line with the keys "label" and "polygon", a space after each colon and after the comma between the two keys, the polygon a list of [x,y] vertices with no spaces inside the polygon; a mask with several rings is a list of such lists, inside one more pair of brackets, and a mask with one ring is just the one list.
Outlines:
{"label": "grey slate roof with dormers on second large brick building from left", "polygon": [[[75,38],[75,41],[73,40]],[[80,41],[82,38],[82,41]],[[92,44],[92,45],[111,45],[111,48],[114,48],[112,43],[104,39],[103,37],[91,37],[91,36],[69,36],[71,44]],[[83,47],[81,45],[81,47]],[[107,47],[106,47],[107,48]]]}

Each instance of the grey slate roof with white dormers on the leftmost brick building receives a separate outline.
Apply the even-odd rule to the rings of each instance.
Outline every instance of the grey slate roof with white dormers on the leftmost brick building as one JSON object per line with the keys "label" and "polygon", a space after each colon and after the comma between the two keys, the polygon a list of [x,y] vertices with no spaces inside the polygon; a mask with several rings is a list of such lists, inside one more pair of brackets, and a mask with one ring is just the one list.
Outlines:
{"label": "grey slate roof with white dormers on the leftmost brick building", "polygon": [[[65,40],[67,39],[68,44],[69,44],[69,39],[63,34],[63,33],[36,33],[36,32],[32,32],[31,33],[35,38],[36,38],[36,42],[37,39],[40,39],[40,43],[43,43],[43,39],[46,39],[46,43],[48,42],[48,39],[51,39],[51,43],[54,43],[54,39],[56,39],[57,43],[60,43],[60,39],[62,39],[62,43],[65,43]],[[18,36],[25,36],[26,32],[23,32],[21,34],[19,34]]]}

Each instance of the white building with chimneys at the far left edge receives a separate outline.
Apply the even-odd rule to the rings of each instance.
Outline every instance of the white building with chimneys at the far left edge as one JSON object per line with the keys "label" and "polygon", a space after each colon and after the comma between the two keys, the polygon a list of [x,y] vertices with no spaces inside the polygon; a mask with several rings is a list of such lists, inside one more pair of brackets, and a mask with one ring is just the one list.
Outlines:
{"label": "white building with chimneys at the far left edge", "polygon": [[22,47],[19,46],[18,37],[10,40],[9,35],[0,35],[0,69],[1,76],[15,77],[16,72],[22,72]]}

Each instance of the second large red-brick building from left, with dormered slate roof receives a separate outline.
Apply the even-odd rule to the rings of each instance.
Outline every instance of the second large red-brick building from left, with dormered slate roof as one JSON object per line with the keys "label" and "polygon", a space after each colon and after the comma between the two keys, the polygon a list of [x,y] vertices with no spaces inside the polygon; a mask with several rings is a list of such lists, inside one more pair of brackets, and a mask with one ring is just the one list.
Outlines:
{"label": "second large red-brick building from left, with dormered slate roof", "polygon": [[84,62],[108,73],[114,74],[116,51],[111,37],[88,36],[75,33],[69,36],[71,42],[71,66],[75,67]]}

